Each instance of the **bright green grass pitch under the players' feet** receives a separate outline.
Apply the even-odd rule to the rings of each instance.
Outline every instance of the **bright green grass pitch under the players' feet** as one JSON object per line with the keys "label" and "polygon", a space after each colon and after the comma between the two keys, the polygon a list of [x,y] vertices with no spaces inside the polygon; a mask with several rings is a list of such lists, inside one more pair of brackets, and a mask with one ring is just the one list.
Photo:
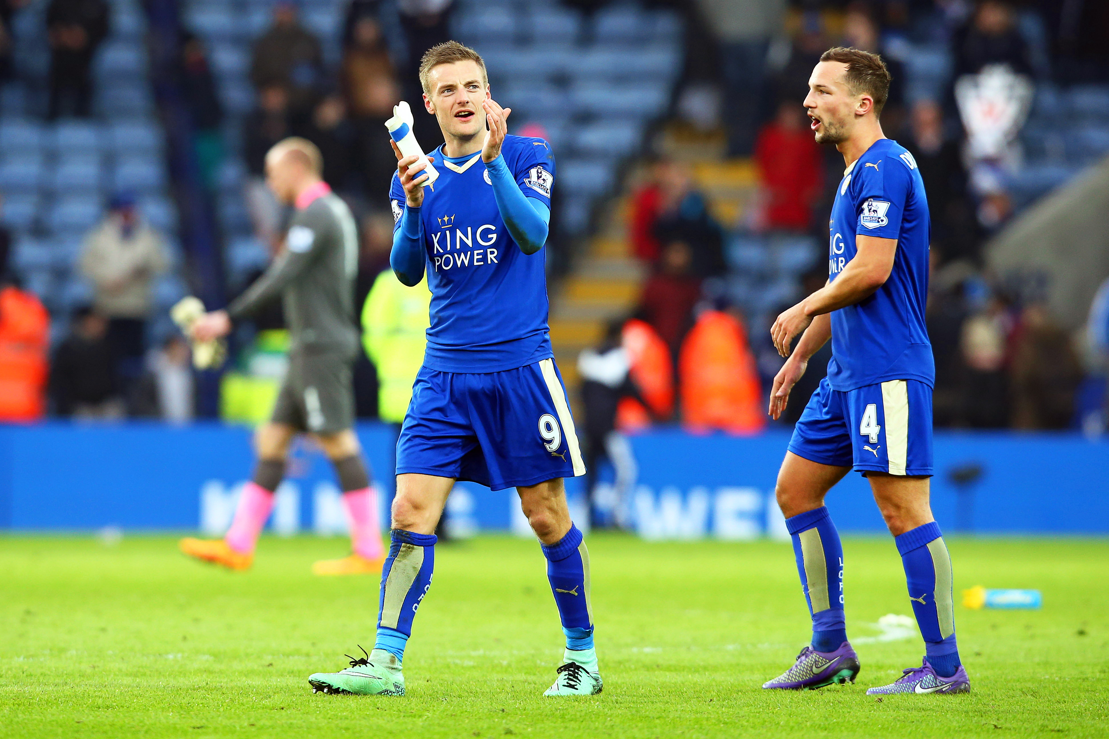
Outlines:
{"label": "bright green grass pitch under the players' feet", "polygon": [[974,691],[869,686],[919,637],[862,643],[910,614],[886,537],[844,542],[857,685],[760,688],[808,618],[787,544],[589,538],[604,692],[545,699],[562,635],[535,542],[438,547],[405,659],[408,695],[313,695],[307,676],[374,640],[377,581],[308,567],[342,540],[264,538],[254,569],[187,561],[167,536],[0,537],[2,737],[1008,737],[1109,735],[1109,542],[949,542],[958,591],[1035,587],[1038,612],[956,606]]}

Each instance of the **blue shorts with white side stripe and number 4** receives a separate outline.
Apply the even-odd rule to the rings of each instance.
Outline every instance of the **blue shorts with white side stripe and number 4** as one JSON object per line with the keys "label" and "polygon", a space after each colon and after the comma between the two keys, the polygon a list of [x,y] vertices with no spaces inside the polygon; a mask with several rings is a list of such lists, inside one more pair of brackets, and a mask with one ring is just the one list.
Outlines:
{"label": "blue shorts with white side stripe and number 4", "polygon": [[889,380],[843,392],[824,378],[793,429],[790,451],[863,474],[930,475],[932,388]]}

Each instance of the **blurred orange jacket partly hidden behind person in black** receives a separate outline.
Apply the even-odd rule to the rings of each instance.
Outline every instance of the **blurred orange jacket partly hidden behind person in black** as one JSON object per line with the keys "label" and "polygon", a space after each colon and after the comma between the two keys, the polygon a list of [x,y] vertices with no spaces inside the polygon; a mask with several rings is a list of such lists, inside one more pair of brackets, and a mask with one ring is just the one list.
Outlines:
{"label": "blurred orange jacket partly hidden behind person in black", "polygon": [[632,318],[624,324],[621,343],[631,362],[631,380],[648,409],[634,398],[623,398],[617,408],[617,428],[635,431],[651,425],[651,417],[669,419],[674,413],[674,369],[670,348],[650,324]]}

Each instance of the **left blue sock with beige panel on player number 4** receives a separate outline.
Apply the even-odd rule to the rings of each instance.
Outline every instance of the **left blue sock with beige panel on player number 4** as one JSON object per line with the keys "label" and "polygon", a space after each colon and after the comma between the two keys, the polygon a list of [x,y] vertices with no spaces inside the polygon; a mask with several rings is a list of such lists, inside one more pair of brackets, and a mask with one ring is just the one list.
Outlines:
{"label": "left blue sock with beige panel on player number 4", "polygon": [[843,615],[843,545],[826,506],[785,520],[813,617],[813,649],[835,651],[847,640]]}

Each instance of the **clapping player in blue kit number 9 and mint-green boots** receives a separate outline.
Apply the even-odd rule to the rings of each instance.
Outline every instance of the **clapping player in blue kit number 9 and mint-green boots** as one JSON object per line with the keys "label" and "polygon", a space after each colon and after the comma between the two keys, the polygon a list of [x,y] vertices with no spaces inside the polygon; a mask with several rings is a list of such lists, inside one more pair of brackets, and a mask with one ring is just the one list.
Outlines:
{"label": "clapping player in blue kit number 9 and mint-green boots", "polygon": [[[431,48],[420,82],[446,143],[429,156],[439,177],[426,187],[424,165],[393,144],[390,263],[408,286],[427,271],[431,326],[397,442],[377,640],[349,668],[308,681],[325,692],[404,695],[405,645],[431,585],[433,532],[455,481],[469,480],[517,489],[547,558],[566,651],[543,695],[594,695],[601,677],[589,552],[562,484],[586,465],[554,367],[540,254],[554,158],[543,140],[508,135],[511,109],[494,102],[485,62],[472,49],[454,41]],[[391,135],[399,141],[406,133],[401,126]]]}

